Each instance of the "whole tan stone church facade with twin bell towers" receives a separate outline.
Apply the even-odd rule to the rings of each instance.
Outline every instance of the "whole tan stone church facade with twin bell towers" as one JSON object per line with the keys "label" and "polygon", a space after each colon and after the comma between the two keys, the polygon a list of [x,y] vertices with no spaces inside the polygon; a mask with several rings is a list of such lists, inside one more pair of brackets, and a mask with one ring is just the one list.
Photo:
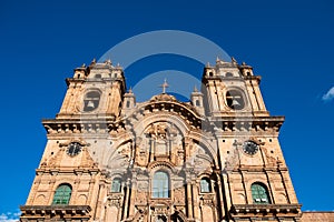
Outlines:
{"label": "whole tan stone church facade with twin bell towers", "polygon": [[302,221],[250,65],[217,59],[188,102],[136,102],[109,60],[66,82],[20,221]]}

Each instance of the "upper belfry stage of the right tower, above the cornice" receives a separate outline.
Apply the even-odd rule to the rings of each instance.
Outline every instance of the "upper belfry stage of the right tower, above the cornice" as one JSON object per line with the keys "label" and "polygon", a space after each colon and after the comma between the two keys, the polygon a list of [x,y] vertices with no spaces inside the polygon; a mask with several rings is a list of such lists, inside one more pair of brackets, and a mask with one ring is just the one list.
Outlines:
{"label": "upper belfry stage of the right tower, above the cornice", "polygon": [[212,117],[268,115],[261,91],[261,77],[253,68],[217,58],[216,65],[207,64],[203,73],[206,113]]}

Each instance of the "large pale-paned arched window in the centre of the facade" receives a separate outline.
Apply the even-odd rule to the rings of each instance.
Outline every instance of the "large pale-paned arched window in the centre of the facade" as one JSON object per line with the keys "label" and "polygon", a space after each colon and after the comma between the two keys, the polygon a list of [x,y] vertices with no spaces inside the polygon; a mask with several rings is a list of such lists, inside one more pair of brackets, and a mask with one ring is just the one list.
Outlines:
{"label": "large pale-paned arched window in the centre of the facade", "polygon": [[166,172],[158,171],[154,174],[151,196],[169,198],[169,176]]}

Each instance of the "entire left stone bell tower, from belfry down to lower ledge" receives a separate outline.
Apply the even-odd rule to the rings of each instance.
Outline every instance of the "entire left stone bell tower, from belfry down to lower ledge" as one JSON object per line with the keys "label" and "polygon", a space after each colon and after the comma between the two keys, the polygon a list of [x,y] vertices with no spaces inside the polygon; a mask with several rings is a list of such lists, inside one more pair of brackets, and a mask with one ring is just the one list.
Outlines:
{"label": "entire left stone bell tower, from belfry down to lower ledge", "polygon": [[98,221],[108,174],[104,153],[112,141],[108,123],[119,117],[122,69],[110,60],[75,69],[56,119],[43,120],[48,142],[20,221]]}

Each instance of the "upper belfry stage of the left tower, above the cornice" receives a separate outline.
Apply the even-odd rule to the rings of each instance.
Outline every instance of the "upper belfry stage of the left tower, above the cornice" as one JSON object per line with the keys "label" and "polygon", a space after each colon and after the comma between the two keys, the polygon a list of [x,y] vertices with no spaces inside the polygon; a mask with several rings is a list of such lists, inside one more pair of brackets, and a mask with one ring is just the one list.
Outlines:
{"label": "upper belfry stage of the left tower, above the cornice", "polygon": [[122,68],[110,60],[75,69],[66,80],[68,90],[57,119],[76,115],[118,117],[126,89]]}

